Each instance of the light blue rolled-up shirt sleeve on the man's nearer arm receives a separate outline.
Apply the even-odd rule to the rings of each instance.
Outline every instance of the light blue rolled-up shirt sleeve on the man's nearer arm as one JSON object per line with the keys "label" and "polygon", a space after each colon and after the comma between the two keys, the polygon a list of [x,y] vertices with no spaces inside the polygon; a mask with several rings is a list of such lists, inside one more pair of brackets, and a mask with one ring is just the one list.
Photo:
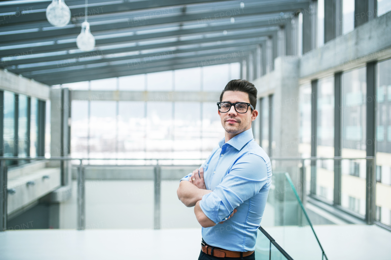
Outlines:
{"label": "light blue rolled-up shirt sleeve on the man's nearer arm", "polygon": [[255,154],[239,158],[213,192],[203,196],[200,207],[214,223],[224,221],[243,201],[267,184],[265,160]]}

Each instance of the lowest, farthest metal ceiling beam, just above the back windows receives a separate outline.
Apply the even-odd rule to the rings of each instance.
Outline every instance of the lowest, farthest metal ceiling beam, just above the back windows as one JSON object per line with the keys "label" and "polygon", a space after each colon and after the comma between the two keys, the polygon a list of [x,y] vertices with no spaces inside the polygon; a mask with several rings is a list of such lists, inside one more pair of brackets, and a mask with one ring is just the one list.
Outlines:
{"label": "lowest, farthest metal ceiling beam, just above the back windows", "polygon": [[45,75],[23,75],[27,78],[34,78],[34,80],[43,82],[48,85],[63,84],[69,82],[79,82],[92,79],[108,78],[108,77],[122,77],[127,75],[136,75],[143,73],[151,73],[157,71],[165,71],[172,69],[194,68],[199,66],[209,66],[216,64],[224,64],[231,62],[239,62],[243,57],[246,57],[249,52],[243,52],[240,57],[231,59],[215,59],[216,55],[210,55],[206,57],[192,57],[182,59],[172,59],[160,62],[153,62],[150,64],[139,64],[137,68],[129,69],[129,66],[107,66],[99,69],[92,69],[86,73],[86,71],[74,71],[72,73],[64,74],[45,74]]}

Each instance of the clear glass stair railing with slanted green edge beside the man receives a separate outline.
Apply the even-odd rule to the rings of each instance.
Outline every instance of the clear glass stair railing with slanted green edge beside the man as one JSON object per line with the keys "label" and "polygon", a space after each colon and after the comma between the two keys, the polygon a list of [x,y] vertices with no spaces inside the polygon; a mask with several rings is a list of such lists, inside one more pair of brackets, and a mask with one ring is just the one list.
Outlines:
{"label": "clear glass stair railing with slanted green edge beside the man", "polygon": [[[273,173],[261,226],[270,235],[258,230],[256,259],[327,259],[288,173]],[[276,242],[289,255],[284,255]]]}

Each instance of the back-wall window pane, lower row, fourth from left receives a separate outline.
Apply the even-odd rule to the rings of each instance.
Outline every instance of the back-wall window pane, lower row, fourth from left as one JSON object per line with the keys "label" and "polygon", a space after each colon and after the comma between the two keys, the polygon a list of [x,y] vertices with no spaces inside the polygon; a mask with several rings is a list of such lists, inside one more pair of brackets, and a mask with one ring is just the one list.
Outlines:
{"label": "back-wall window pane, lower row, fourth from left", "polygon": [[147,102],[147,158],[171,158],[173,103]]}

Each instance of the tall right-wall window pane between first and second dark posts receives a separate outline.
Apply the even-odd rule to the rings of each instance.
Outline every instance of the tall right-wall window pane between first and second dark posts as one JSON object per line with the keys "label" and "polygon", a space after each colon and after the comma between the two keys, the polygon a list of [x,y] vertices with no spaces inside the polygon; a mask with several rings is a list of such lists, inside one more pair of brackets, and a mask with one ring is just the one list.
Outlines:
{"label": "tall right-wall window pane between first and second dark posts", "polygon": [[[318,82],[318,157],[334,156],[334,77]],[[334,160],[318,160],[316,194],[334,200]]]}

